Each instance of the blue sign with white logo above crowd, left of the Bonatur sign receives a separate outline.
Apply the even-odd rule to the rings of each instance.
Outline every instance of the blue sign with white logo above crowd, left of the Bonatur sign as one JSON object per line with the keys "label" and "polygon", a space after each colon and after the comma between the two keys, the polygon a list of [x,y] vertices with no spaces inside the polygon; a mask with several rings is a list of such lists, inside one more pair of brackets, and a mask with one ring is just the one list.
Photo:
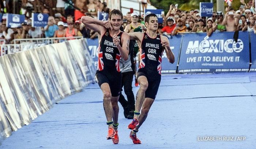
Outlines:
{"label": "blue sign with white logo above crowd, left of the Bonatur sign", "polygon": [[16,27],[19,27],[20,24],[24,21],[25,21],[25,15],[7,13],[6,27],[16,28]]}

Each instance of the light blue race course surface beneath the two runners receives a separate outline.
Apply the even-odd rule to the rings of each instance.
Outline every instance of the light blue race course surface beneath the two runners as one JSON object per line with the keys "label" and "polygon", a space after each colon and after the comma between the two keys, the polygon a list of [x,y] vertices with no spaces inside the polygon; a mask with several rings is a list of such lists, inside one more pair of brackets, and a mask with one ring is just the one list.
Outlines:
{"label": "light blue race course surface beneath the two runners", "polygon": [[[255,86],[256,73],[162,76],[157,98],[137,134],[142,144],[133,145],[129,139],[130,120],[124,118],[120,106],[120,143],[113,145],[105,139],[107,125],[101,90],[91,84],[13,132],[0,148],[253,149]],[[133,88],[135,94],[137,90],[138,87]],[[210,137],[216,141],[198,141]]]}

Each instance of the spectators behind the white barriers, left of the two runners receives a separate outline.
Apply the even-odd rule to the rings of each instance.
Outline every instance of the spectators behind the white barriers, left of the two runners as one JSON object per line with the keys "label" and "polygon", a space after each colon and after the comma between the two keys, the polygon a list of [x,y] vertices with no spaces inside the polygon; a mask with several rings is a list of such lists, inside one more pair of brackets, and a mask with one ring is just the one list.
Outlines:
{"label": "spectators behind the white barriers, left of the two runners", "polygon": [[[4,13],[15,13],[12,8],[15,3],[3,1],[0,10]],[[83,36],[85,38],[97,38],[97,33],[81,23],[82,16],[97,18],[97,12],[109,13],[111,10],[103,0],[35,0],[20,1],[20,15],[25,15],[25,21],[17,28],[6,27],[6,16],[0,22],[0,39],[12,44],[13,39],[34,39],[49,37]],[[32,27],[31,13],[47,13],[48,23],[45,27]],[[72,38],[73,37],[73,38]],[[56,40],[55,42],[59,42]]]}

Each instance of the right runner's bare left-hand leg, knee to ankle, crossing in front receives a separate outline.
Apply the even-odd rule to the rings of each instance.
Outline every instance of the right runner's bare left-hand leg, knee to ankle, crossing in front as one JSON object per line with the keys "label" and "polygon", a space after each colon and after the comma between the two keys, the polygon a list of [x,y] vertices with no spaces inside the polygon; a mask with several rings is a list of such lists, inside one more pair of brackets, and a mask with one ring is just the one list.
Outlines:
{"label": "right runner's bare left-hand leg, knee to ankle, crossing in front", "polygon": [[[144,98],[145,98],[145,92],[147,90],[148,87],[148,81],[146,76],[139,76],[138,78],[139,84],[140,84],[140,88],[136,94],[136,102],[135,102],[135,111],[136,112],[140,112],[140,109],[142,107]],[[138,120],[139,115],[137,115],[136,113],[134,113],[134,117]]]}

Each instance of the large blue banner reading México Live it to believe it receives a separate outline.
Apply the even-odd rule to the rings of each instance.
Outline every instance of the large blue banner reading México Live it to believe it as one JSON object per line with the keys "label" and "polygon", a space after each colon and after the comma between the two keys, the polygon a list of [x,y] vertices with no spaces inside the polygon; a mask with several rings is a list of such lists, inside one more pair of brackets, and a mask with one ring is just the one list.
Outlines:
{"label": "large blue banner reading M\u00e9xico Live it to believe it", "polygon": [[247,72],[249,70],[249,35],[239,32],[206,33],[183,36],[178,73]]}

